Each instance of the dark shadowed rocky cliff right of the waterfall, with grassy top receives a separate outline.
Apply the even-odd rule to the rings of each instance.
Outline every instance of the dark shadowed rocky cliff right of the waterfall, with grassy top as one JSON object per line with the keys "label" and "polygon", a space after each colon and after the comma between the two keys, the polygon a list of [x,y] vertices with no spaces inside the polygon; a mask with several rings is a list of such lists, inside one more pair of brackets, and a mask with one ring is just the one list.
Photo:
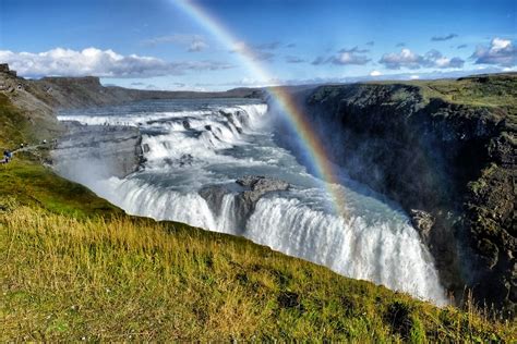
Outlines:
{"label": "dark shadowed rocky cliff right of the waterfall, with grassy top", "polygon": [[322,86],[299,99],[333,159],[413,217],[456,299],[467,285],[477,300],[512,312],[517,140],[508,99],[517,77],[449,83],[447,91],[467,83],[502,103],[430,97],[445,87],[432,83]]}

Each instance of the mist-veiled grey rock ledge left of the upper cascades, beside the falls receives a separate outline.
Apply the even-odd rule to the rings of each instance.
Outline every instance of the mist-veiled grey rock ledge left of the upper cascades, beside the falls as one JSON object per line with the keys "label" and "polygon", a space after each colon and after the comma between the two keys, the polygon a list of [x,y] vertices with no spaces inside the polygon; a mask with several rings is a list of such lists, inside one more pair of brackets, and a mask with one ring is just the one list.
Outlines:
{"label": "mist-veiled grey rock ledge left of the upper cascades, beside the falls", "polygon": [[55,168],[63,175],[123,177],[141,165],[142,136],[136,127],[64,124],[67,134],[50,153]]}

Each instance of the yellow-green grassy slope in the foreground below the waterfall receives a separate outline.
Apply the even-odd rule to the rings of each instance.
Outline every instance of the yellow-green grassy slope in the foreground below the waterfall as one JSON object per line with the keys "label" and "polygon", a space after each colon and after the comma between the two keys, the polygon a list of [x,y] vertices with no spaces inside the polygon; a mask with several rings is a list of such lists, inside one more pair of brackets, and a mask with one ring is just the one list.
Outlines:
{"label": "yellow-green grassy slope in the foreground below the waterfall", "polygon": [[[17,116],[5,103],[0,113]],[[438,309],[243,238],[125,216],[29,159],[0,165],[0,181],[3,341],[515,337],[515,323]]]}

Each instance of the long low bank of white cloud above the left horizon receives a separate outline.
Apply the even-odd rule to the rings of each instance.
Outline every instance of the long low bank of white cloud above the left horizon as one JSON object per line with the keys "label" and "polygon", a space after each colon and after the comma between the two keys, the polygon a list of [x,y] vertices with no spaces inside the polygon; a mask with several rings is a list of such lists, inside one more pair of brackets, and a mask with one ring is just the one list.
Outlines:
{"label": "long low bank of white cloud above the left horizon", "polygon": [[167,62],[153,57],[122,56],[113,50],[86,48],[81,51],[56,48],[44,52],[0,50],[0,62],[9,63],[22,76],[95,75],[101,77],[152,77],[179,75],[187,71],[221,70],[230,64],[214,61]]}

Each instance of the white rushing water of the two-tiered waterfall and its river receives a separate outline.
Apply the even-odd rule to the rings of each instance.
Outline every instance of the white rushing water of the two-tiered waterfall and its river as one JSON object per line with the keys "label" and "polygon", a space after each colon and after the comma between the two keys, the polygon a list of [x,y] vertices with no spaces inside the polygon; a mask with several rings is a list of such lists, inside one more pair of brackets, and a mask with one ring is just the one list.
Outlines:
{"label": "white rushing water of the two-tiered waterfall and its river", "polygon": [[[431,256],[408,217],[345,175],[337,187],[347,196],[347,218],[336,216],[322,182],[298,162],[300,152],[278,144],[272,118],[266,105],[250,99],[144,101],[59,116],[141,128],[141,171],[123,180],[71,176],[130,213],[243,235],[340,274],[444,304]],[[290,188],[263,196],[242,224],[236,221],[236,179],[244,175],[282,180]],[[217,209],[200,195],[214,185],[228,191]]]}

